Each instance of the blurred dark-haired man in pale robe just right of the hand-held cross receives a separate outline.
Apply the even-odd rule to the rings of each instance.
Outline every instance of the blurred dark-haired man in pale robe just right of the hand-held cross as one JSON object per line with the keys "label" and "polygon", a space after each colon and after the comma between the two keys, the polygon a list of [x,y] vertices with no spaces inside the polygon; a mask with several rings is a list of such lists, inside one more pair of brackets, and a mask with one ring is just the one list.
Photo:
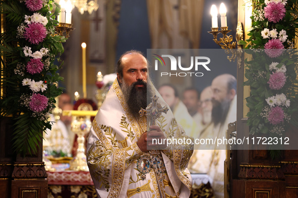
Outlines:
{"label": "blurred dark-haired man in pale robe just right of the hand-held cross", "polygon": [[168,104],[176,121],[184,128],[188,136],[194,137],[197,133],[197,126],[192,116],[188,113],[186,106],[178,97],[178,91],[172,84],[163,84],[158,92]]}

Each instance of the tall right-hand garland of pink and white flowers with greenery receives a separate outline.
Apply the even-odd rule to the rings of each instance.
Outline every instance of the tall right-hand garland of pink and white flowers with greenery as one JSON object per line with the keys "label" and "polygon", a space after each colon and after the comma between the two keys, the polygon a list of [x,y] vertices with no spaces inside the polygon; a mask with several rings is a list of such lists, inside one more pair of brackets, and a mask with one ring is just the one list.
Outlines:
{"label": "tall right-hand garland of pink and white flowers with greenery", "polygon": [[244,82],[251,87],[246,100],[252,135],[279,137],[288,123],[297,124],[293,116],[298,111],[295,85],[298,56],[293,49],[298,28],[297,3],[297,0],[252,0],[250,38],[240,42],[252,57],[245,61],[248,80]]}

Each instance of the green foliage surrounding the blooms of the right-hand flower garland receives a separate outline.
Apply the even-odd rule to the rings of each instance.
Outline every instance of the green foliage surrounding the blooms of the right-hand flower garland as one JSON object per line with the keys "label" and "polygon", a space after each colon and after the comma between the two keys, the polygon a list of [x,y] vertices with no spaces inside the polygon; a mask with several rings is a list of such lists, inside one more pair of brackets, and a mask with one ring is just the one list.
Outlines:
{"label": "green foliage surrounding the blooms of the right-hand flower garland", "polygon": [[[271,4],[275,4],[273,1],[271,2]],[[296,80],[298,55],[296,50],[293,49],[297,33],[296,23],[298,22],[298,11],[294,5],[297,5],[298,1],[280,2],[285,3],[286,13],[283,19],[274,23],[265,18],[264,8],[268,6],[265,1],[253,0],[252,27],[249,29],[249,39],[241,41],[241,44],[246,45],[245,52],[251,55],[250,60],[245,60],[245,77],[247,81],[244,82],[244,85],[250,86],[251,89],[250,96],[246,98],[246,105],[250,108],[250,112],[247,114],[247,117],[249,117],[247,124],[250,127],[250,134],[257,136],[281,137],[289,127],[289,123],[298,126],[297,118],[294,116],[298,110],[298,81]],[[264,34],[265,29],[270,32],[268,38]],[[275,38],[271,35],[271,31],[277,32]],[[285,41],[280,38],[281,31],[286,32],[287,37],[283,37]],[[277,53],[279,49],[265,49],[265,44],[273,39],[280,39],[284,47],[283,50],[281,49],[280,54]],[[269,55],[270,52],[276,53],[276,56]],[[275,68],[272,67],[272,63],[275,63]],[[273,72],[283,72],[286,76],[286,81],[281,88],[270,88],[269,79]],[[267,102],[269,98],[279,98],[280,100],[280,95],[283,94],[289,102],[287,105],[285,102],[281,103],[280,101],[273,104]],[[269,116],[272,109],[276,107],[282,108],[284,113],[281,122],[273,122],[272,117]],[[278,115],[276,115],[276,118],[278,118]],[[272,158],[280,155],[279,149],[281,147],[278,146],[280,145],[269,147]]]}

